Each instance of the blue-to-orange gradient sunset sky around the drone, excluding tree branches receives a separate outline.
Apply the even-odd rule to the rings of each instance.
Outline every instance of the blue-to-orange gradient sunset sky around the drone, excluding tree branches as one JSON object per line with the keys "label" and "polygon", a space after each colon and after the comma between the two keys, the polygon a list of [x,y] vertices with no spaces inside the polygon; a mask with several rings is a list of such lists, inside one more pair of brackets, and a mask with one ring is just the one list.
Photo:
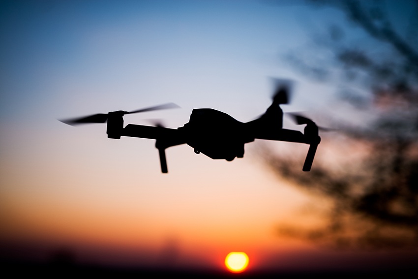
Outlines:
{"label": "blue-to-orange gradient sunset sky around the drone, excluding tree branches", "polygon": [[[194,108],[247,122],[269,106],[271,77],[296,81],[285,111],[329,110],[332,88],[282,57],[309,44],[311,23],[325,28],[340,13],[268,0],[0,5],[3,245],[42,259],[64,247],[80,262],[212,269],[234,250],[249,255],[249,269],[335,258],[275,233],[290,220],[321,222],[301,212],[328,203],[270,173],[257,157],[260,141],[232,162],[172,147],[161,174],[153,140],[112,140],[105,124],[58,119],[174,102],[180,108],[125,116],[125,124],[177,128]],[[301,166],[306,151],[301,145]]]}

